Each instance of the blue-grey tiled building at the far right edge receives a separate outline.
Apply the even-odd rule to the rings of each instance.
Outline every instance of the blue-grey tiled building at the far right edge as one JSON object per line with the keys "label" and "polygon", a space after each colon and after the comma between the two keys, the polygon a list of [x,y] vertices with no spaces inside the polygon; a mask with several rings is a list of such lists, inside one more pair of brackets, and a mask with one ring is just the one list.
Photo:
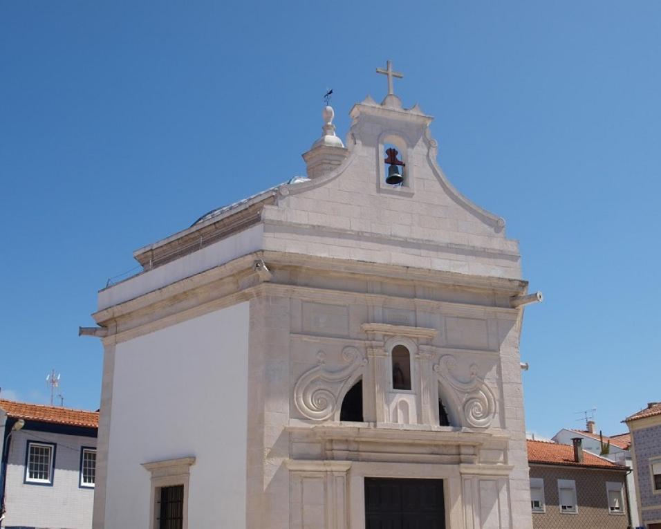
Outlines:
{"label": "blue-grey tiled building at the far right edge", "polygon": [[661,529],[661,402],[626,418],[631,432],[638,515],[646,529]]}

